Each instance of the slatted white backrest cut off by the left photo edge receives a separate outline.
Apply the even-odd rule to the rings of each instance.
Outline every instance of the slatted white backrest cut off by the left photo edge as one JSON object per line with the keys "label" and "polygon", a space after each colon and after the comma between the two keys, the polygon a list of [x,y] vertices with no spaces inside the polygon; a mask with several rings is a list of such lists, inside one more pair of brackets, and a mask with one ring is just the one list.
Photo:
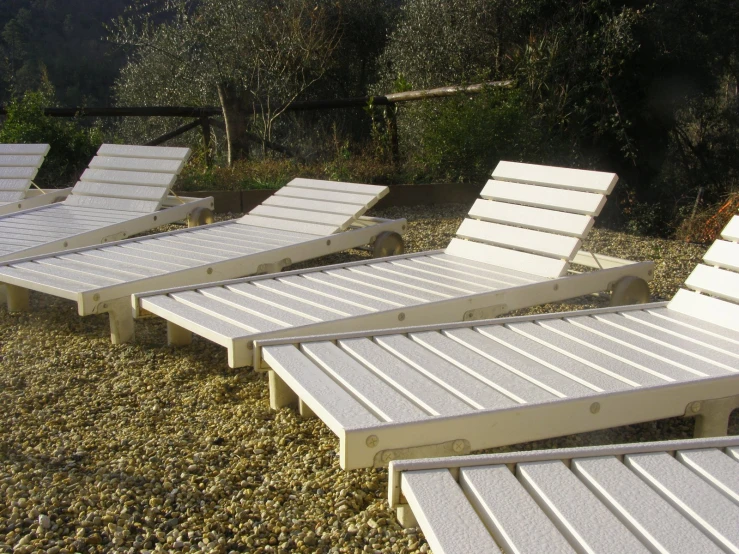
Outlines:
{"label": "slatted white backrest cut off by the left photo edge", "polygon": [[0,144],[0,202],[26,197],[48,153],[48,144]]}

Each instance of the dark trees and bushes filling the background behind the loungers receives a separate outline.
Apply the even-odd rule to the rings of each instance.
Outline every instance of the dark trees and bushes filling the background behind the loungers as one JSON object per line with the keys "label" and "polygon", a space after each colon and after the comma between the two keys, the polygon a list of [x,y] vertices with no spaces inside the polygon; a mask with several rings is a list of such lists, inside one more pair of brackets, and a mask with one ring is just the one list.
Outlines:
{"label": "dark trees and bushes filling the background behind the loungers", "polygon": [[[64,120],[44,106],[223,105],[227,124],[299,156],[213,129],[207,167],[196,129],[178,139],[196,151],[183,189],[298,174],[482,184],[510,159],[617,172],[607,220],[633,232],[705,240],[720,208],[739,207],[739,0],[0,1],[0,141],[50,142],[45,184],[74,180],[102,141],[143,143],[187,120]],[[276,109],[492,80],[513,85]]]}

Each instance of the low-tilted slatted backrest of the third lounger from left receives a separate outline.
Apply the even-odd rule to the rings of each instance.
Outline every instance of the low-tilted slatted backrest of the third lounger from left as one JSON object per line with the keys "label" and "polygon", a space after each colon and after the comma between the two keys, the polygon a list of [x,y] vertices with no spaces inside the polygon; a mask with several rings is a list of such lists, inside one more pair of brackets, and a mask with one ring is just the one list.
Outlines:
{"label": "low-tilted slatted backrest of the third lounger from left", "polygon": [[346,230],[389,192],[387,187],[293,179],[239,219],[256,227],[325,236]]}

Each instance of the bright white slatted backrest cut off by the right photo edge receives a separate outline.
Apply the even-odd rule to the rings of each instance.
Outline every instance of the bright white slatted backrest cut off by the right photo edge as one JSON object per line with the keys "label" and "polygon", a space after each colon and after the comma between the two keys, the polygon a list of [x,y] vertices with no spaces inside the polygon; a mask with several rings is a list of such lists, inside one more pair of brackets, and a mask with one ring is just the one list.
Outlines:
{"label": "bright white slatted backrest cut off by the right photo edge", "polygon": [[739,332],[739,216],[703,256],[668,304],[671,310]]}

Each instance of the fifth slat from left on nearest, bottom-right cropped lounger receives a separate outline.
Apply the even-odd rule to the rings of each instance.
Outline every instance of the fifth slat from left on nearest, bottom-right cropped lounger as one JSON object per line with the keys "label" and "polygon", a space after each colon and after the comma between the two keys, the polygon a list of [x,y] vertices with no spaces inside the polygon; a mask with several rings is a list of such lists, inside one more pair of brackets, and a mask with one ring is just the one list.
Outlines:
{"label": "fifth slat from left on nearest, bottom-right cropped lounger", "polygon": [[667,453],[630,454],[624,463],[716,544],[739,552],[739,506]]}

